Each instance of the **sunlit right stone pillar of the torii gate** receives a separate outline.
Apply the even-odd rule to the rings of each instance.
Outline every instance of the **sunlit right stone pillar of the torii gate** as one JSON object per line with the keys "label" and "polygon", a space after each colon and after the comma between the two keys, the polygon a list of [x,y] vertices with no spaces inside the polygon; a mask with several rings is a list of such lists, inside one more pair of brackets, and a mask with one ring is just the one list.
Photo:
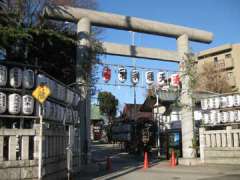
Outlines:
{"label": "sunlit right stone pillar of the torii gate", "polygon": [[189,77],[184,74],[187,56],[189,53],[189,40],[186,34],[177,38],[177,51],[180,57],[180,76],[182,81],[182,92],[181,92],[181,109],[182,115],[182,151],[183,158],[194,158],[195,153],[192,148],[193,140],[193,109],[192,109],[192,97],[191,91],[189,91]]}

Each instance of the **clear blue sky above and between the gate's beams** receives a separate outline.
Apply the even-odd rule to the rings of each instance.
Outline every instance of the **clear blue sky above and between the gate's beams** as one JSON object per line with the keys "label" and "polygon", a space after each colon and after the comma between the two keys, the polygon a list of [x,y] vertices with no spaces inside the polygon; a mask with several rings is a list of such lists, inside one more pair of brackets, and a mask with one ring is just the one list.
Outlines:
{"label": "clear blue sky above and between the gate's beams", "polygon": [[[98,0],[100,11],[135,16],[165,23],[188,26],[207,30],[214,33],[211,44],[191,43],[194,52],[208,49],[226,43],[240,43],[240,1],[239,0]],[[128,31],[105,29],[100,37],[103,41],[121,44],[131,44],[131,34]],[[176,50],[176,40],[135,34],[137,46]],[[131,58],[118,56],[104,56],[103,62],[132,65]],[[175,63],[159,61],[136,60],[137,66],[177,70]],[[101,69],[99,69],[101,71]],[[116,71],[116,68],[113,68]],[[101,82],[101,81],[100,81]],[[113,77],[112,83],[115,82]],[[98,89],[111,91],[120,101],[120,108],[124,103],[133,103],[133,90],[129,87],[102,86]],[[146,90],[137,88],[137,103],[142,103]]]}

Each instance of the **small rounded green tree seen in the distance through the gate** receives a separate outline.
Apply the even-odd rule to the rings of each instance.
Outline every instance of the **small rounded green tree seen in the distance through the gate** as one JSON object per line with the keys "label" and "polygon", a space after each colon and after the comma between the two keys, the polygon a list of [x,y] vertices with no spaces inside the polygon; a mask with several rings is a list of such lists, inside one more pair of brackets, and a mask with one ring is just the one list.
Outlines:
{"label": "small rounded green tree seen in the distance through the gate", "polygon": [[104,91],[98,94],[98,102],[101,114],[106,115],[111,123],[117,113],[118,100],[110,92]]}

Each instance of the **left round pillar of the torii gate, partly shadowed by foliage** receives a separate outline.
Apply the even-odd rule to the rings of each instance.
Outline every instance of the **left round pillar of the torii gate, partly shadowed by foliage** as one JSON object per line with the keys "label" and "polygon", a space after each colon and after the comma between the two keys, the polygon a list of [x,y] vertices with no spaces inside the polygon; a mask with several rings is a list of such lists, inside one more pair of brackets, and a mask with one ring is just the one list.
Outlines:
{"label": "left round pillar of the torii gate, partly shadowed by foliage", "polygon": [[[77,46],[76,58],[76,82],[78,83],[79,91],[81,92],[81,100],[79,103],[80,116],[80,136],[81,136],[81,163],[87,164],[89,143],[90,143],[90,97],[88,94],[86,72],[82,68],[82,64],[86,62],[88,57],[88,48],[90,46],[89,36],[91,31],[91,23],[88,18],[81,18],[77,23],[77,33],[79,44]],[[90,62],[87,62],[90,63]]]}

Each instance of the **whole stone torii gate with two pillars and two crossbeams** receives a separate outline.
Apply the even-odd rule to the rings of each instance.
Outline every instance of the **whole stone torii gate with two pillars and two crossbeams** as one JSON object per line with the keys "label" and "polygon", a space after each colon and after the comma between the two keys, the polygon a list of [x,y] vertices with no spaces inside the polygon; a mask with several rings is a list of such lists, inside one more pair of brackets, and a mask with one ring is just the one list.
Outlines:
{"label": "whole stone torii gate with two pillars and two crossbeams", "polygon": [[[203,30],[69,6],[57,6],[54,8],[47,7],[44,10],[44,16],[50,19],[77,23],[79,45],[77,48],[76,60],[76,82],[81,83],[85,83],[80,66],[83,62],[82,53],[84,53],[85,48],[90,46],[88,37],[90,35],[91,26],[100,26],[175,38],[177,41],[177,51],[127,46],[109,42],[103,42],[103,48],[105,49],[104,53],[110,55],[171,61],[177,63],[184,63],[187,60],[186,54],[189,53],[189,41],[210,43],[213,39],[212,33]],[[184,71],[184,69],[180,70],[181,72]],[[182,150],[183,158],[185,159],[194,157],[193,149],[191,148],[194,125],[192,109],[189,108],[192,107],[192,99],[190,94],[187,93],[189,92],[188,90],[189,80],[185,77],[182,79],[182,93],[180,98],[182,104],[188,105],[188,108],[183,107],[181,110]],[[86,140],[89,143],[89,95],[83,96],[82,104],[84,105],[82,107],[85,107],[85,105],[89,107],[88,110],[85,109],[86,113],[80,113],[82,126],[81,137],[83,138],[82,144],[86,145],[86,143],[84,143]],[[86,149],[86,146],[82,147],[82,149],[85,149],[85,153],[89,152]]]}

